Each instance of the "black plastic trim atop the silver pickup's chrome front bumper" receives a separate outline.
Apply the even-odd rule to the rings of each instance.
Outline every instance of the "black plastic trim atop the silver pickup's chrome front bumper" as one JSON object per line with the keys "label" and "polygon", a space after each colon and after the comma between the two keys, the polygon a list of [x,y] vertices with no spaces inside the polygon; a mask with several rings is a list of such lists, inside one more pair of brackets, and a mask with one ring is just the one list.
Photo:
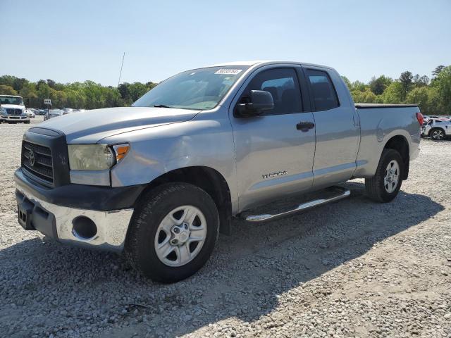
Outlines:
{"label": "black plastic trim atop the silver pickup's chrome front bumper", "polygon": [[30,180],[21,168],[14,173],[14,180],[25,194],[29,192],[42,201],[69,208],[94,211],[113,211],[133,208],[135,201],[147,184],[129,187],[98,187],[84,184],[66,184],[47,188]]}

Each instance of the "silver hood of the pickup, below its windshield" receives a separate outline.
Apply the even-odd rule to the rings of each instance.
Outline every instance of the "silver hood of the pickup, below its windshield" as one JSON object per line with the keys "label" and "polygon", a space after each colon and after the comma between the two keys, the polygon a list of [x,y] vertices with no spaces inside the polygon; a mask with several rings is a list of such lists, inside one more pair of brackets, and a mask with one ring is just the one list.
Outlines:
{"label": "silver hood of the pickup, below its windshield", "polygon": [[169,123],[185,122],[199,111],[175,108],[121,107],[72,112],[39,124],[66,134],[68,144],[96,143],[105,137]]}

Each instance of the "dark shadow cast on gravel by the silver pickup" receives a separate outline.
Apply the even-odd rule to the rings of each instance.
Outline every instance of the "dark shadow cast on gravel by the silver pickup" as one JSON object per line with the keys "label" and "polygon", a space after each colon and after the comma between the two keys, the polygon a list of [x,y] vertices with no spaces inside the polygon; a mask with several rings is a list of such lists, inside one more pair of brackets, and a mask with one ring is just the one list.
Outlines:
{"label": "dark shadow cast on gravel by the silver pickup", "polygon": [[[349,199],[292,218],[261,225],[234,220],[233,235],[220,236],[206,267],[177,284],[145,280],[111,253],[39,239],[10,246],[0,251],[0,270],[10,270],[12,276],[0,281],[0,289],[6,290],[0,292],[0,322],[11,304],[6,295],[13,294],[20,300],[14,314],[32,318],[43,332],[60,325],[63,331],[80,330],[83,323],[99,327],[100,337],[131,337],[135,332],[139,337],[146,332],[175,337],[232,317],[252,323],[275,311],[278,297],[294,287],[444,209],[428,196],[402,191],[393,203],[375,204],[364,196],[362,183],[343,186],[352,190]],[[266,211],[276,211],[280,204]],[[319,301],[334,291],[310,294],[304,301]],[[44,316],[35,317],[36,311]],[[94,312],[105,315],[89,315]],[[68,317],[76,320],[66,324]],[[113,327],[125,321],[130,325]]]}

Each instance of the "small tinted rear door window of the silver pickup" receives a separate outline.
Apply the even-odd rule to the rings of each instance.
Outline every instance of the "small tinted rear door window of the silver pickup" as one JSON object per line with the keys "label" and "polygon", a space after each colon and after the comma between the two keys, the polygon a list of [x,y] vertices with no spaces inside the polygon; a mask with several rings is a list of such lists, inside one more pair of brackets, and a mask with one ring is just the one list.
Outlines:
{"label": "small tinted rear door window of the silver pickup", "polygon": [[315,110],[327,111],[340,106],[332,81],[326,72],[307,69]]}

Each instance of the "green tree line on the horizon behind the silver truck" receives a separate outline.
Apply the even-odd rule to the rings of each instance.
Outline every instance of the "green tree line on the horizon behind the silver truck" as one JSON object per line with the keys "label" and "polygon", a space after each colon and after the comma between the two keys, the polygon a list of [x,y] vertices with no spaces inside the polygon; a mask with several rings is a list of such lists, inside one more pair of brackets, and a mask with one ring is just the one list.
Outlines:
{"label": "green tree line on the horizon behind the silver truck", "polygon": [[[368,83],[350,82],[345,76],[343,80],[354,102],[419,104],[426,115],[451,115],[451,65],[439,65],[431,78],[405,71],[397,79],[381,75],[371,78]],[[125,82],[112,87],[89,80],[62,84],[50,79],[30,82],[4,75],[0,77],[0,94],[23,96],[25,106],[29,108],[43,108],[44,99],[51,99],[54,108],[96,109],[130,106],[156,84]]]}

